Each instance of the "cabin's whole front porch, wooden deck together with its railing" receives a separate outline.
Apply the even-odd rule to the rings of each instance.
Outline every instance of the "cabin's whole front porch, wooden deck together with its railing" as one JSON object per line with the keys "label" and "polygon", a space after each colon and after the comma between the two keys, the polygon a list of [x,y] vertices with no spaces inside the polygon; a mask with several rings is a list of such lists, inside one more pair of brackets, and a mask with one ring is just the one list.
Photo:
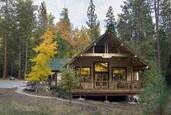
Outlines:
{"label": "cabin's whole front porch, wooden deck together with its railing", "polygon": [[[94,84],[93,84],[94,83]],[[94,87],[94,88],[92,88]],[[72,90],[73,96],[128,96],[143,91],[141,81],[82,82]]]}

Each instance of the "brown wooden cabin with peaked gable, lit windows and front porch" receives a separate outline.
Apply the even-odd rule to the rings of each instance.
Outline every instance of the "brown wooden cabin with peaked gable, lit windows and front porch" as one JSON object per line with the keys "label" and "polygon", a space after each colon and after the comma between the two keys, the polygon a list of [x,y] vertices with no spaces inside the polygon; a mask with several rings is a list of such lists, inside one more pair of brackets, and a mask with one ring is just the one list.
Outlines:
{"label": "brown wooden cabin with peaked gable, lit windows and front porch", "polygon": [[113,33],[107,31],[73,58],[81,77],[74,96],[122,96],[142,91],[143,72],[148,65]]}

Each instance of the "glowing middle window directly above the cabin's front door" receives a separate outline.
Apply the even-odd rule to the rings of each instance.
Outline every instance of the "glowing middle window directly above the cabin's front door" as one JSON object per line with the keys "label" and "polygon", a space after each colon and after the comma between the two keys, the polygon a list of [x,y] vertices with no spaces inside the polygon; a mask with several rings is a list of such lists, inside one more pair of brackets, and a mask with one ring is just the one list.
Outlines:
{"label": "glowing middle window directly above the cabin's front door", "polygon": [[108,63],[95,63],[95,72],[108,72]]}

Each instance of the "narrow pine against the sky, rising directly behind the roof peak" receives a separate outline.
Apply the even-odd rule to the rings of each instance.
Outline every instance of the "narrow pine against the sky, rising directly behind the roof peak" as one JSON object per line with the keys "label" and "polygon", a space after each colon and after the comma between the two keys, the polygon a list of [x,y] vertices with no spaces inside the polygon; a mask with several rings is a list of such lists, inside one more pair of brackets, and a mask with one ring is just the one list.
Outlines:
{"label": "narrow pine against the sky, rising directly behind the roof peak", "polygon": [[114,34],[116,34],[116,21],[115,21],[115,16],[113,14],[113,8],[112,6],[109,6],[109,9],[106,13],[106,28],[107,30],[110,30]]}

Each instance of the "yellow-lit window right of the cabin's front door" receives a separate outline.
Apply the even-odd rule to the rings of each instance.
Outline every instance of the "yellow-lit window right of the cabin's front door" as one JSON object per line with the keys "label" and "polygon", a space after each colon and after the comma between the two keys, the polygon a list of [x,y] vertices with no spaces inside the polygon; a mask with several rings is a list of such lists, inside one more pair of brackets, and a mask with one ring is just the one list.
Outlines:
{"label": "yellow-lit window right of the cabin's front door", "polygon": [[112,80],[126,80],[126,68],[112,68]]}

